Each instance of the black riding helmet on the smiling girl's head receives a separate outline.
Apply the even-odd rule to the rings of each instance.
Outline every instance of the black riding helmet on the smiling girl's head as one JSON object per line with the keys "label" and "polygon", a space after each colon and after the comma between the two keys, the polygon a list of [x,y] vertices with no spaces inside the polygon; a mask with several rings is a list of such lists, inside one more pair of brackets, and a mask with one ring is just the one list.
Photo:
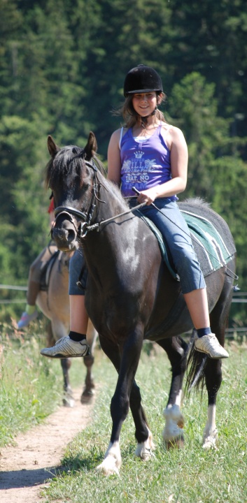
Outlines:
{"label": "black riding helmet on the smiling girl's head", "polygon": [[143,92],[163,92],[160,75],[150,66],[143,64],[129,70],[125,77],[124,95]]}

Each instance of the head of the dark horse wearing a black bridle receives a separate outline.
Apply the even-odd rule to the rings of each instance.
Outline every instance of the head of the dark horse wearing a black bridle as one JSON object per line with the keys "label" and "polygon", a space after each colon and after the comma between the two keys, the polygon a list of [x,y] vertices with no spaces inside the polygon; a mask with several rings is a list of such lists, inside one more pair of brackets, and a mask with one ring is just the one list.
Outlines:
{"label": "head of the dark horse wearing a black bridle", "polygon": [[87,222],[92,212],[97,190],[94,164],[97,141],[90,132],[84,149],[75,145],[59,148],[52,136],[48,136],[48,150],[51,159],[45,182],[52,190],[56,217],[51,234],[59,249],[69,251],[78,247],[78,226]]}

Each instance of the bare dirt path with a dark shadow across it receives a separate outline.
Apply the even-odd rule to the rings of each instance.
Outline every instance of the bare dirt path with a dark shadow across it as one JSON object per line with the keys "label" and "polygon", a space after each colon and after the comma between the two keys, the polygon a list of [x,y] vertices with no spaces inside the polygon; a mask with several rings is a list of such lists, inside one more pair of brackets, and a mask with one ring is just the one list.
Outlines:
{"label": "bare dirt path with a dark shadow across it", "polygon": [[43,425],[38,425],[15,438],[15,446],[0,452],[0,502],[42,503],[39,494],[47,479],[61,469],[66,445],[78,432],[86,428],[94,400],[80,403],[79,391],[73,391],[75,407],[59,409]]}

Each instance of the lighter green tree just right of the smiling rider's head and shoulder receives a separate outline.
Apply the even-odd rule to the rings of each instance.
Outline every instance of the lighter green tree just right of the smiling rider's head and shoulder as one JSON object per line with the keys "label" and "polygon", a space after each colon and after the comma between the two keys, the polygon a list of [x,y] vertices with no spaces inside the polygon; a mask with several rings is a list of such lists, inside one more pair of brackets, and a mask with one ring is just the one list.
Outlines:
{"label": "lighter green tree just right of the smiling rider's head and shoulder", "polygon": [[199,73],[186,75],[175,84],[169,99],[169,114],[181,127],[188,143],[188,190],[185,196],[213,198],[211,165],[230,153],[229,121],[218,117],[215,85]]}

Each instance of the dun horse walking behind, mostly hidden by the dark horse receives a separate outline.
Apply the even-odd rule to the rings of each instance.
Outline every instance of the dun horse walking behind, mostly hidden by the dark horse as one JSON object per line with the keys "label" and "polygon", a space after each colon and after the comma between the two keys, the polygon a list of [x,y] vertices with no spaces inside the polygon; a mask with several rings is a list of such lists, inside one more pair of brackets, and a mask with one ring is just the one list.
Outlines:
{"label": "dun horse walking behind, mostly hidden by the dark horse", "polygon": [[[68,335],[69,333],[69,255],[61,251],[55,254],[48,263],[45,274],[44,286],[38,293],[36,304],[43,314],[50,320],[48,332],[48,344],[52,344]],[[97,338],[97,332],[90,322],[87,330],[87,341],[90,344],[91,355],[85,356],[83,362],[87,369],[85,377],[85,387],[81,395],[81,402],[89,402],[94,393],[94,381],[92,378],[92,365],[94,363],[94,344]],[[62,372],[64,377],[64,397],[65,407],[73,407],[73,391],[69,382],[69,368],[71,360],[63,358],[61,360]]]}

